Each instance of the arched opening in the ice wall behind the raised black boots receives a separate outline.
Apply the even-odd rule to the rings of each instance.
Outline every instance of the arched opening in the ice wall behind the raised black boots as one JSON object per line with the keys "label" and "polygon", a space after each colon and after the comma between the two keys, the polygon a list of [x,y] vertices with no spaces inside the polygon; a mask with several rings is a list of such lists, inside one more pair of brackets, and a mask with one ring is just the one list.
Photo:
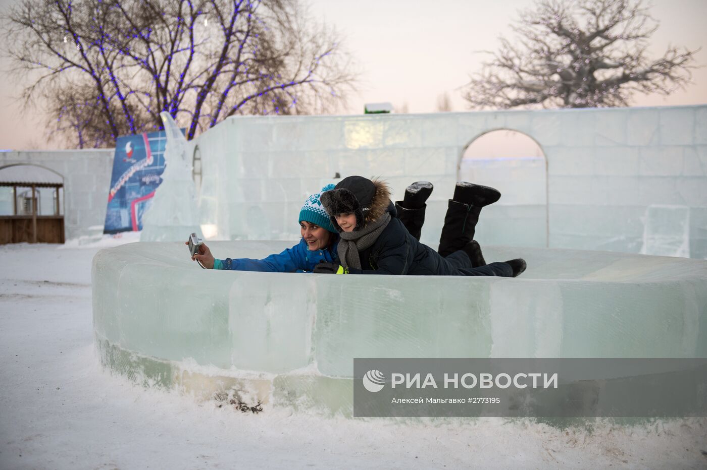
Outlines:
{"label": "arched opening in the ice wall behind the raised black boots", "polygon": [[483,210],[479,243],[547,247],[547,160],[535,140],[510,129],[482,133],[465,148],[457,175],[501,191]]}

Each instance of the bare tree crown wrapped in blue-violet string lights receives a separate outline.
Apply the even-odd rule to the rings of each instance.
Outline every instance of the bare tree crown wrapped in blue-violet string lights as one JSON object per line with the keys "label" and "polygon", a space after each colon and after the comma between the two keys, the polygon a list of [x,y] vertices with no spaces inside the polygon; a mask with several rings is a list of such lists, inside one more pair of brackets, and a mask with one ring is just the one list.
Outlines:
{"label": "bare tree crown wrapped in blue-violet string lights", "polygon": [[355,82],[335,32],[297,0],[25,0],[6,20],[23,97],[76,145],[234,114],[337,107]]}

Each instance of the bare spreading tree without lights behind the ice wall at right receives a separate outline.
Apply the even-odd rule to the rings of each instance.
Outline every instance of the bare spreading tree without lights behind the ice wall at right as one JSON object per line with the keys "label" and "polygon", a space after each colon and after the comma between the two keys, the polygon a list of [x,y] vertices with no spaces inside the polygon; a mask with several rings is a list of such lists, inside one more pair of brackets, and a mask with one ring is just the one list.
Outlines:
{"label": "bare spreading tree without lights behind the ice wall at right", "polygon": [[667,95],[691,79],[699,50],[668,47],[649,59],[658,28],[641,0],[541,0],[501,37],[464,98],[471,107],[626,106],[634,92]]}

